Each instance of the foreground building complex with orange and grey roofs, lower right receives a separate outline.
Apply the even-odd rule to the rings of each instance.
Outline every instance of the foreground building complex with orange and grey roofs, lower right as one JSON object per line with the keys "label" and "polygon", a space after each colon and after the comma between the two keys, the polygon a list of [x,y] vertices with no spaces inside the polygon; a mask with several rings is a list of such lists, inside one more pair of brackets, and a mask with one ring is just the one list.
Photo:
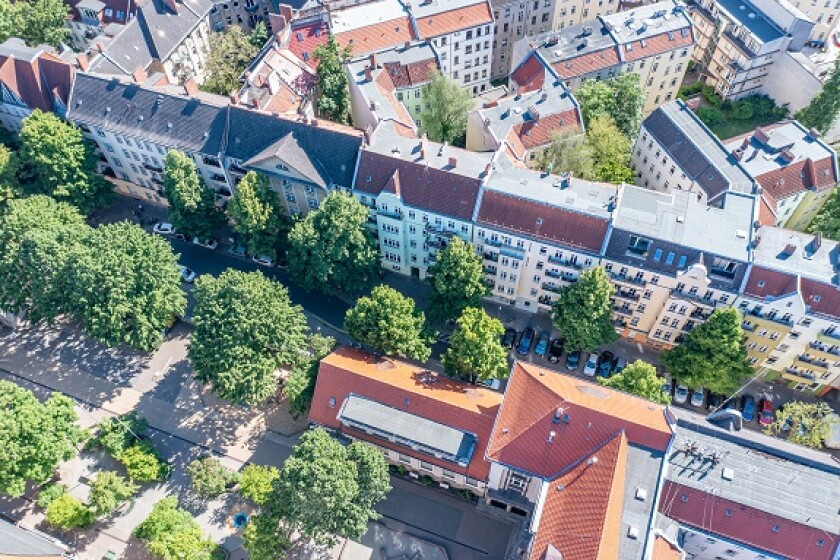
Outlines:
{"label": "foreground building complex with orange and grey roofs, lower right", "polygon": [[523,522],[507,558],[840,554],[836,464],[697,418],[528,363],[501,394],[351,348],[322,360],[310,409],[408,476]]}

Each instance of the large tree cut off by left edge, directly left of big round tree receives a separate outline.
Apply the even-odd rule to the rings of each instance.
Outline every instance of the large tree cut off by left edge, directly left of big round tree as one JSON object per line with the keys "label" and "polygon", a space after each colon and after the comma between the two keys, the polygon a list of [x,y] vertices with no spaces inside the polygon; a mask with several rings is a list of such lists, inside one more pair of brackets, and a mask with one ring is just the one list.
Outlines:
{"label": "large tree cut off by left edge, directly left of big round tree", "polygon": [[0,308],[33,323],[67,313],[68,266],[89,229],[67,203],[43,195],[12,200],[0,216]]}

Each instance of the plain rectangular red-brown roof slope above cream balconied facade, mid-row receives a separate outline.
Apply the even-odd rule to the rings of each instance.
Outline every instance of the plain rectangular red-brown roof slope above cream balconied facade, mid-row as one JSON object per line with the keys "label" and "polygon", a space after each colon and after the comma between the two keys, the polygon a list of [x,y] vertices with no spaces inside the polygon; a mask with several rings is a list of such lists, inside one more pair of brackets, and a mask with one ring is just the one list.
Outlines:
{"label": "plain rectangular red-brown roof slope above cream balconied facade, mid-row", "polygon": [[494,190],[481,197],[478,223],[597,253],[609,220]]}

